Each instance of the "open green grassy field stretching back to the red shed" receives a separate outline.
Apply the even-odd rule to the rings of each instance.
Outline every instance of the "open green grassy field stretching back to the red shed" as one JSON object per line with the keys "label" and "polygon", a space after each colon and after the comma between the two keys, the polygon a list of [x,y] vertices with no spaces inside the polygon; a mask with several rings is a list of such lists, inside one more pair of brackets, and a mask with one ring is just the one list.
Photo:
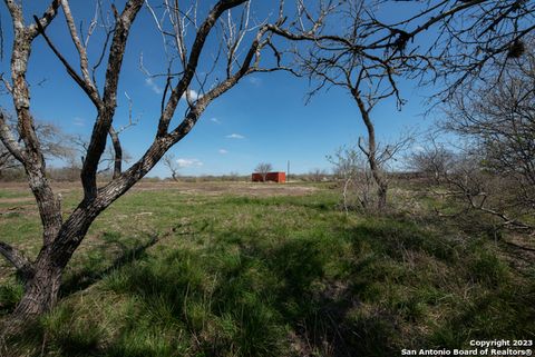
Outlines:
{"label": "open green grassy field stretching back to the red shed", "polygon": [[[81,190],[56,189],[68,212]],[[346,215],[331,184],[143,182],[95,221],[60,304],[16,344],[27,356],[399,356],[535,339],[533,256],[437,220],[424,198],[409,206],[421,211]],[[40,229],[27,186],[1,184],[2,239],[31,257]],[[1,315],[21,290],[0,260]]]}

